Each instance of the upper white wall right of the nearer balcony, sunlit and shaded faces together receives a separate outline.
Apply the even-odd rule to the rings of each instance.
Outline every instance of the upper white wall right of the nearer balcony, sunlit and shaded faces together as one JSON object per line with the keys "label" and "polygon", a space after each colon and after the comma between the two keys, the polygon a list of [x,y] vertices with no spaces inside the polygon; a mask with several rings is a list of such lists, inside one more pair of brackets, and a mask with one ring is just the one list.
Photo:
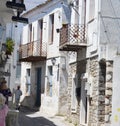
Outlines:
{"label": "upper white wall right of the nearer balcony, sunlit and shaded faces together", "polygon": [[89,1],[87,1],[86,23],[88,27],[87,57],[98,55],[99,59],[113,60],[119,52],[119,1],[95,1],[95,15],[89,22]]}

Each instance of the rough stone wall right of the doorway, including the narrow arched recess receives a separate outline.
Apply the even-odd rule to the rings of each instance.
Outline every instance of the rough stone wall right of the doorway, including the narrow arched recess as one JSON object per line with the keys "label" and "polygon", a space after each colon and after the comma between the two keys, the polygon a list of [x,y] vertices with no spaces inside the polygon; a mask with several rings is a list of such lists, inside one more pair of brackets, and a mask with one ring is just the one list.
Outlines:
{"label": "rough stone wall right of the doorway, including the narrow arched recess", "polygon": [[89,126],[110,126],[112,98],[112,62],[97,58],[90,59],[91,96]]}

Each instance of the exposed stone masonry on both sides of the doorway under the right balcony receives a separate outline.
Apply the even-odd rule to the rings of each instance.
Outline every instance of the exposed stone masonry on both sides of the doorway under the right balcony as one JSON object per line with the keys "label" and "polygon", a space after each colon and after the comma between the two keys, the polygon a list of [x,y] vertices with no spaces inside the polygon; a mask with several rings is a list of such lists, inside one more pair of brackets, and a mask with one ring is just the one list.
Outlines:
{"label": "exposed stone masonry on both sides of the doorway under the right balcony", "polygon": [[[72,74],[76,71],[78,75],[78,83],[81,84],[79,80],[80,76],[82,73],[85,73],[86,70],[83,66],[85,66],[84,61],[72,64],[70,66],[68,79],[68,119],[71,122],[77,122],[77,124],[79,123],[79,116],[81,115],[79,115],[80,106],[78,106],[76,113],[71,113]],[[104,126],[105,124],[110,126],[112,110],[112,67],[112,61],[106,62],[104,59],[98,61],[98,57],[93,57],[87,60],[86,72],[88,72],[88,81],[91,86],[88,126]]]}

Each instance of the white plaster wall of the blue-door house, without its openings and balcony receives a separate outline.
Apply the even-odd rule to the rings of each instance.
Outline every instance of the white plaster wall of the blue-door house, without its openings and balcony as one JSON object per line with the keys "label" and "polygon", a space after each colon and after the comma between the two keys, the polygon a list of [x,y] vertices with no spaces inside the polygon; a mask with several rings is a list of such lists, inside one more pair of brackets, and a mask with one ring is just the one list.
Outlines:
{"label": "white plaster wall of the blue-door house, without its openings and balcony", "polygon": [[[41,111],[44,112],[52,112],[53,114],[58,112],[59,108],[59,96],[60,96],[60,88],[65,90],[67,88],[67,58],[62,59],[66,56],[66,53],[59,52],[59,38],[60,34],[56,32],[56,29],[61,28],[63,21],[68,22],[67,17],[68,15],[63,16],[66,14],[67,9],[63,10],[62,1],[52,1],[49,4],[42,6],[41,8],[37,8],[36,10],[31,11],[30,13],[26,14],[25,17],[29,18],[29,24],[32,23],[32,29],[34,27],[34,40],[38,39],[38,20],[43,19],[43,43],[47,44],[47,60],[45,62],[37,62],[32,64],[25,64],[22,63],[22,73],[21,73],[21,84],[23,93],[25,92],[25,71],[29,67],[32,70],[31,73],[31,84],[32,84],[32,92],[31,96],[33,98],[31,100],[35,100],[36,95],[36,81],[35,81],[35,68],[42,67],[42,88],[45,87],[45,92],[42,94],[42,106]],[[44,13],[43,13],[44,12]],[[68,11],[69,12],[69,11]],[[54,13],[54,39],[53,44],[49,45],[49,16]],[[23,44],[28,42],[28,25],[24,26],[23,28]],[[63,57],[61,57],[63,56]],[[47,69],[48,66],[52,65],[51,58],[56,58],[56,63],[53,65],[53,96],[46,95],[46,85],[47,85]],[[65,69],[63,66],[65,66]],[[59,69],[59,78],[57,79]],[[64,91],[63,91],[64,92]],[[62,92],[62,93],[63,93]],[[25,93],[23,95],[25,98]],[[25,102],[24,104],[27,104]],[[33,102],[34,103],[34,102]],[[33,106],[32,103],[30,103]]]}

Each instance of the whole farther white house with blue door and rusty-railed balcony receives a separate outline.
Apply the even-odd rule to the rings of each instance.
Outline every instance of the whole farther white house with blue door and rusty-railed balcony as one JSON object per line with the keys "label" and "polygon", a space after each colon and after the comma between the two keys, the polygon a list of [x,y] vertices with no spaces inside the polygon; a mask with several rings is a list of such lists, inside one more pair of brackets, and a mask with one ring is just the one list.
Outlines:
{"label": "whole farther white house with blue door and rusty-railed balcony", "polygon": [[65,0],[48,0],[23,15],[20,46],[22,105],[65,114],[68,56],[59,51],[60,29],[70,21]]}

